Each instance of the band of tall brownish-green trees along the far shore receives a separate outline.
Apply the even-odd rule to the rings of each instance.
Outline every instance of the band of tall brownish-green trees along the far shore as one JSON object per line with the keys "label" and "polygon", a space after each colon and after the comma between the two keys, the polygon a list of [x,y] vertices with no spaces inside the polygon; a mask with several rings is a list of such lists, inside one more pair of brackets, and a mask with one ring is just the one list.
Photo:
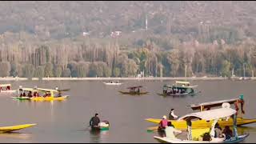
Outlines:
{"label": "band of tall brownish-green trees along the far shore", "polygon": [[141,71],[154,77],[230,77],[232,70],[243,76],[244,67],[251,76],[256,67],[256,45],[250,38],[235,44],[176,42],[165,50],[154,38],[123,48],[118,39],[37,42],[30,36],[14,37],[0,38],[0,77],[134,77]]}

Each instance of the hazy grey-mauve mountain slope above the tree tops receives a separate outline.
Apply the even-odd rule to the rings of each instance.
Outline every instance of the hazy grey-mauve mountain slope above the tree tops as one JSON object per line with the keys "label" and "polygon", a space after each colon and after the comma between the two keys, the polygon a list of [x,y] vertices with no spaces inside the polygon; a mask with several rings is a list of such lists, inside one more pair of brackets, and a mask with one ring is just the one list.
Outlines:
{"label": "hazy grey-mauve mountain slope above the tree tops", "polygon": [[256,34],[256,2],[250,1],[0,2],[0,34],[26,31],[57,39],[82,34],[103,38],[113,31],[132,34],[146,29],[146,18],[150,34],[178,34],[202,42]]}

